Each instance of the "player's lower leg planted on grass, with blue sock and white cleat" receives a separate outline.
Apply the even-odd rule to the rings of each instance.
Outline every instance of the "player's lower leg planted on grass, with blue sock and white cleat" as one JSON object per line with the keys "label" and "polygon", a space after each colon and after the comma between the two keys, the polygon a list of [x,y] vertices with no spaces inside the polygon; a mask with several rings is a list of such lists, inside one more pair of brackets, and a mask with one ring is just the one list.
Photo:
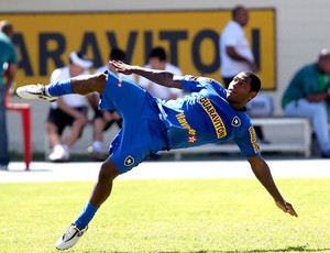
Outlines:
{"label": "player's lower leg planted on grass, with blue sock and white cleat", "polygon": [[66,250],[74,246],[81,235],[87,231],[88,223],[94,218],[99,207],[107,200],[112,190],[112,182],[119,175],[119,170],[112,160],[108,157],[101,165],[98,180],[92,190],[91,197],[81,213],[74,223],[57,240],[56,249]]}

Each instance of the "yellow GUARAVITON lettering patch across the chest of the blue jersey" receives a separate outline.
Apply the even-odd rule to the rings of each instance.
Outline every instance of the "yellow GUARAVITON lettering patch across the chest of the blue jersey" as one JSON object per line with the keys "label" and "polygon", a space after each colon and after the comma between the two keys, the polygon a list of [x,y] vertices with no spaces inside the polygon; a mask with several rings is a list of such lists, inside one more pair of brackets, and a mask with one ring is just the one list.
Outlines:
{"label": "yellow GUARAVITON lettering patch across the chest of the blue jersey", "polygon": [[210,117],[210,120],[212,121],[212,124],[213,124],[216,133],[217,133],[217,138],[221,139],[221,138],[227,136],[227,130],[226,130],[224,123],[223,123],[222,119],[220,118],[220,116],[218,114],[218,112],[216,111],[211,101],[205,97],[201,97],[199,99],[199,103],[204,108],[204,110],[208,113],[208,116]]}

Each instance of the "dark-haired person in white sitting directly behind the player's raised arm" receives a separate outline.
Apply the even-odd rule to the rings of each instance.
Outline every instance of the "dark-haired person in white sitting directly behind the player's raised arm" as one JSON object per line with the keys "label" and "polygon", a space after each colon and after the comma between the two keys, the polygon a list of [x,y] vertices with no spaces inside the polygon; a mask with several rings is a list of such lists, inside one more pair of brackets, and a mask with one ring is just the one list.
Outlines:
{"label": "dark-haired person in white sitting directly behind the player's raised arm", "polygon": [[[166,70],[174,73],[177,76],[182,76],[183,72],[174,66],[173,64],[169,64],[167,62],[167,55],[163,47],[154,47],[148,55],[148,64],[144,66],[145,68],[152,68],[152,69],[160,69],[160,70]],[[152,82],[151,80],[139,77],[138,84],[146,89],[151,95],[153,95],[156,98],[160,98],[162,100],[170,100],[170,99],[177,99],[183,96],[183,91],[176,88],[167,88],[164,86],[160,86],[155,82]]]}

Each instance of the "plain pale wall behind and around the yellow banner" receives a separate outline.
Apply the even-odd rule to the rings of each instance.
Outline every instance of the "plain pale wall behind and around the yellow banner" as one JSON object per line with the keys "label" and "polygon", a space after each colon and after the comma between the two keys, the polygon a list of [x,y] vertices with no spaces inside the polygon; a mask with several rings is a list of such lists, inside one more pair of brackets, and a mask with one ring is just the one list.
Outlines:
{"label": "plain pale wall behind and around the yellow banner", "polygon": [[322,47],[330,47],[329,0],[56,0],[52,2],[44,0],[7,0],[6,4],[4,0],[1,0],[0,13],[204,10],[229,9],[239,3],[243,3],[248,8],[274,8],[276,10],[277,88],[274,91],[268,91],[268,94],[274,98],[275,113],[280,114],[280,97],[293,74],[302,65],[316,61]]}

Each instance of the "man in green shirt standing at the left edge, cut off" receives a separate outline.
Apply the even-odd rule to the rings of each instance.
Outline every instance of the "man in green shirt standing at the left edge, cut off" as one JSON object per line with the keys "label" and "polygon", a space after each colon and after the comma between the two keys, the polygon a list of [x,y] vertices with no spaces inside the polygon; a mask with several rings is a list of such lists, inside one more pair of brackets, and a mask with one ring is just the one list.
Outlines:
{"label": "man in green shirt standing at the left edge, cut off", "polygon": [[[7,170],[10,162],[7,116],[6,116],[6,96],[9,92],[15,73],[18,69],[18,53],[11,38],[13,26],[9,21],[0,21],[0,169]],[[7,64],[6,70],[3,69]]]}

